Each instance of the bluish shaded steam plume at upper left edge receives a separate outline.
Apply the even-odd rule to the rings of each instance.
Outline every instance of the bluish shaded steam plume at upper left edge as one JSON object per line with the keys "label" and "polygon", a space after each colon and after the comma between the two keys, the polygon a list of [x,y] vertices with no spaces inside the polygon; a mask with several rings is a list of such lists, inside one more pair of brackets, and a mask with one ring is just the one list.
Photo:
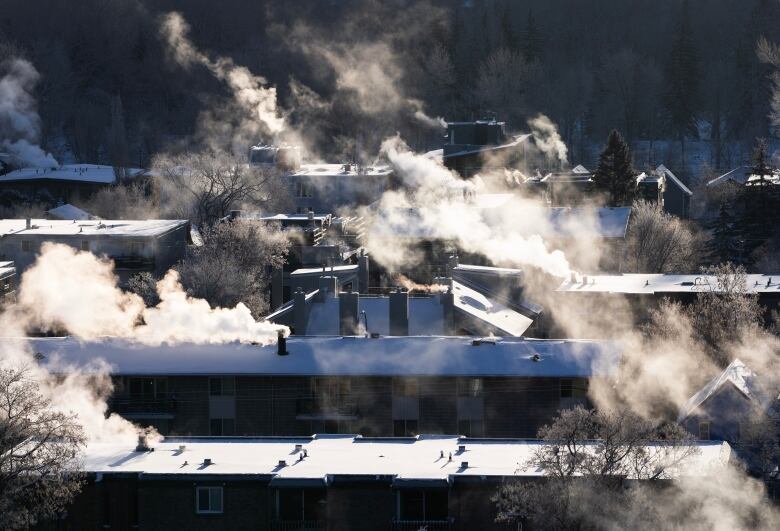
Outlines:
{"label": "bluish shaded steam plume at upper left edge", "polygon": [[41,118],[33,91],[40,74],[29,61],[5,60],[0,69],[0,150],[19,166],[59,166],[50,153],[38,145]]}

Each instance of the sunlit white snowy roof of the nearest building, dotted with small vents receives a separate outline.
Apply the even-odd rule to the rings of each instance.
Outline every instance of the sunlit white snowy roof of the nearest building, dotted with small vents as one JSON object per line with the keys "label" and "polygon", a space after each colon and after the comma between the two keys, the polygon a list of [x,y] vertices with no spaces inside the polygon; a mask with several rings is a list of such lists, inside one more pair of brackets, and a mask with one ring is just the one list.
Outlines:
{"label": "sunlit white snowy roof of the nearest building, dotted with small vents", "polygon": [[[543,476],[544,469],[525,466],[543,444],[539,440],[469,439],[454,435],[415,438],[359,435],[167,437],[151,445],[153,452],[136,452],[127,444],[89,444],[82,459],[82,469],[91,473],[133,473],[151,477],[263,476],[277,485],[309,480],[312,486],[321,484],[324,487],[334,479],[362,477],[392,481],[399,486],[405,482],[413,485],[421,480],[441,482],[444,486],[461,477]],[[596,443],[590,444],[595,450]],[[728,465],[731,455],[728,443],[696,441],[690,444],[698,452],[679,467],[669,470],[669,477],[715,475]],[[668,444],[647,446],[648,452],[658,452],[661,448],[668,448]]]}

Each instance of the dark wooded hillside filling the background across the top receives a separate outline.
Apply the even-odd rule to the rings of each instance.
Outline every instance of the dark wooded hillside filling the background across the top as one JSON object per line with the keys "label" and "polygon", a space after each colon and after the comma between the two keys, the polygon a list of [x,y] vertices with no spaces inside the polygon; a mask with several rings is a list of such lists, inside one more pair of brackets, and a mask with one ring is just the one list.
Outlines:
{"label": "dark wooded hillside filling the background across the top", "polygon": [[715,167],[722,145],[780,135],[756,53],[761,37],[780,42],[775,0],[4,0],[0,43],[42,75],[55,156],[110,162],[120,134],[128,162],[147,165],[227,97],[205,69],[168,60],[170,11],[201,50],[265,77],[334,158],[396,131],[435,147],[417,109],[516,129],[541,112],[573,159],[612,128],[629,143],[708,141]]}

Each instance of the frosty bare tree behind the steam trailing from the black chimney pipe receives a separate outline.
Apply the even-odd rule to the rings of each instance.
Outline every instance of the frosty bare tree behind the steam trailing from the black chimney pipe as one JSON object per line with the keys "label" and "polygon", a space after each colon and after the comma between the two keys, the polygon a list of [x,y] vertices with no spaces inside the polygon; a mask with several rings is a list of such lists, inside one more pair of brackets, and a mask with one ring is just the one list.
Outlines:
{"label": "frosty bare tree behind the steam trailing from the black chimney pipe", "polygon": [[269,273],[284,263],[287,236],[258,222],[237,220],[206,229],[203,240],[177,267],[182,286],[212,306],[243,302],[255,318],[262,316],[268,309]]}

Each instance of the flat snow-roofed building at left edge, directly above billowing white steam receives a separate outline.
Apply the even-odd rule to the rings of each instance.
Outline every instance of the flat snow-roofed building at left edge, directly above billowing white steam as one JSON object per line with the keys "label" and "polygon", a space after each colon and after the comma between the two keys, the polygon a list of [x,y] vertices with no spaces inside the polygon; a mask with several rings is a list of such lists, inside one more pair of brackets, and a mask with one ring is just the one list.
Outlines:
{"label": "flat snow-roofed building at left edge, directly above billowing white steam", "polygon": [[21,275],[45,242],[106,256],[120,281],[148,271],[162,275],[184,256],[190,242],[186,220],[0,220],[0,260],[13,260]]}

